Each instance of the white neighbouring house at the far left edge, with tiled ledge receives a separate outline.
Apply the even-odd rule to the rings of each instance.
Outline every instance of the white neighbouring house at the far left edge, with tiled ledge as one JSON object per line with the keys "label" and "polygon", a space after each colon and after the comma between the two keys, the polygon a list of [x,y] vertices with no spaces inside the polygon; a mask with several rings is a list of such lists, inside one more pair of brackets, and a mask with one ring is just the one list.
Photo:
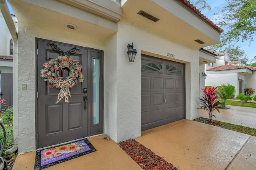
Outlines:
{"label": "white neighbouring house at the far left edge, with tiled ledge", "polygon": [[[18,21],[14,15],[12,20],[15,26]],[[0,99],[6,99],[5,103],[12,105],[12,54],[13,40],[7,28],[2,13],[0,12]]]}

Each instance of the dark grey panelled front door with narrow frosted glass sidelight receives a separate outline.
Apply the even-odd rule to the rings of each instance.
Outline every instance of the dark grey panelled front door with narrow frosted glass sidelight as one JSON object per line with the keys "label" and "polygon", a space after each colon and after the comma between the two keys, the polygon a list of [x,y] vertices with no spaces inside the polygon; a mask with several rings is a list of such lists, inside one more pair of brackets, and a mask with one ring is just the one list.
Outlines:
{"label": "dark grey panelled front door with narrow frosted glass sidelight", "polygon": [[[78,49],[72,51],[72,49]],[[84,75],[84,81],[70,88],[69,103],[63,98],[57,104],[60,89],[46,88],[48,81],[40,77],[43,64],[58,58],[62,52],[77,60]],[[95,68],[95,60],[98,65]],[[68,142],[103,132],[102,117],[102,51],[48,40],[37,39],[37,140],[38,148]],[[94,74],[98,79],[94,80]],[[68,77],[68,69],[60,73]],[[95,89],[95,86],[96,88]],[[96,94],[95,94],[96,93]],[[84,100],[86,98],[86,101]],[[98,101],[95,105],[94,101]],[[95,111],[96,110],[96,111]],[[96,113],[95,113],[96,112]],[[95,118],[96,117],[96,118]],[[95,119],[97,121],[95,122]]]}

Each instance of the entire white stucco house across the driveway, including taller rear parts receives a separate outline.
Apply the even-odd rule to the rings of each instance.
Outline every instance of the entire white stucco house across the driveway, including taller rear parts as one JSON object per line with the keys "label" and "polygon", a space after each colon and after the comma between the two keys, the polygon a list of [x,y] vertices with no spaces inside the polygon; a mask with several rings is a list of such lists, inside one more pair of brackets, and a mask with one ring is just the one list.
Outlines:
{"label": "entire white stucco house across the driveway, including taller rear parts", "polygon": [[206,86],[230,84],[235,87],[235,96],[244,93],[244,89],[256,89],[256,67],[242,66],[240,60],[230,61],[228,53],[216,55],[216,63],[205,65]]}

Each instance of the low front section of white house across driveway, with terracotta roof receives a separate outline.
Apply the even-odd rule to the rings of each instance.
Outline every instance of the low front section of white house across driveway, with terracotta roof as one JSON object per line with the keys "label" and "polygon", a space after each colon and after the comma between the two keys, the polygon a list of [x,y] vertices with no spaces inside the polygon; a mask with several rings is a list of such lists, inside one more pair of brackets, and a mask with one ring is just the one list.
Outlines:
{"label": "low front section of white house across driveway, with terracotta roof", "polygon": [[[239,64],[239,62],[237,62]],[[245,88],[256,89],[256,67],[241,65],[220,65],[206,70],[205,85],[230,84],[236,88],[235,96],[244,93]]]}

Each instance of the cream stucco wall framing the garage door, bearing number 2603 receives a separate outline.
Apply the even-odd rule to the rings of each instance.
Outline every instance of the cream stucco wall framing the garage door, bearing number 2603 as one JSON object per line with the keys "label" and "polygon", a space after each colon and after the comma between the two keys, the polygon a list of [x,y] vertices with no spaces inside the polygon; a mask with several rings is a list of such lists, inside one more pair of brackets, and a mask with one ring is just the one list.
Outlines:
{"label": "cream stucco wall framing the garage door, bearing number 2603", "polygon": [[[199,50],[177,44],[171,38],[126,18],[118,22],[117,35],[117,141],[140,136],[141,51],[186,63],[186,119],[199,117]],[[127,45],[132,42],[138,51],[134,63],[130,63],[127,56]],[[166,57],[168,52],[176,57]]]}

